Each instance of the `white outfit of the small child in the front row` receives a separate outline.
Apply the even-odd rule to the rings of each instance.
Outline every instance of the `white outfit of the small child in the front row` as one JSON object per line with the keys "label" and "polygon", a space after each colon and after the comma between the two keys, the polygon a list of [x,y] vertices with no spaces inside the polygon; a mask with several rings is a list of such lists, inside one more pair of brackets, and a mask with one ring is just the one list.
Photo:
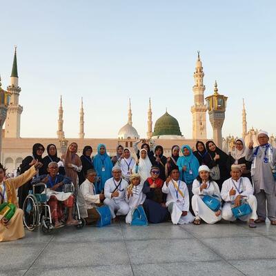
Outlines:
{"label": "white outfit of the small child in the front row", "polygon": [[146,199],[146,195],[142,192],[143,190],[143,183],[140,183],[137,186],[133,186],[132,188],[132,195],[128,198],[128,192],[126,193],[126,202],[129,206],[128,215],[126,215],[126,224],[131,224],[132,221],[132,214],[135,208],[139,205],[144,204]]}

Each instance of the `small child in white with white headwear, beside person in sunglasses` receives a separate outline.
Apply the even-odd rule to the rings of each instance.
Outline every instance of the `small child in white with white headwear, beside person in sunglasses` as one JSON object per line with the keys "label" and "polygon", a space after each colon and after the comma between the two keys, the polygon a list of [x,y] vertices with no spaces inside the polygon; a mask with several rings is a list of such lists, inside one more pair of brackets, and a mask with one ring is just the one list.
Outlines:
{"label": "small child in white with white headwear, beside person in sunglasses", "polygon": [[146,199],[146,195],[142,192],[143,186],[144,184],[141,183],[140,175],[138,173],[132,173],[130,175],[130,185],[126,191],[126,202],[130,208],[126,216],[126,224],[131,224],[133,210],[143,204]]}

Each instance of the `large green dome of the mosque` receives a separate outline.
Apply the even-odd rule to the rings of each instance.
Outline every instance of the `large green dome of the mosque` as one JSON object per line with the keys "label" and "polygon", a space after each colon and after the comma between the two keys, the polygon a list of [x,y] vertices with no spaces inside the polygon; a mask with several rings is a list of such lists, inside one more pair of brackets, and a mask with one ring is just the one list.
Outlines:
{"label": "large green dome of the mosque", "polygon": [[181,135],[177,119],[166,112],[155,122],[155,131],[152,135]]}

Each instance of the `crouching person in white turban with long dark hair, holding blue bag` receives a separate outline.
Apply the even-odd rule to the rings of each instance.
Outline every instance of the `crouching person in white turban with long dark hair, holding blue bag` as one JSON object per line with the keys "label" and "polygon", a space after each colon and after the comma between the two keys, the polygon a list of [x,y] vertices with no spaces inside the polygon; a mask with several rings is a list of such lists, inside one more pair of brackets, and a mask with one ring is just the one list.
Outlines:
{"label": "crouching person in white turban with long dark hair, holding blue bag", "polygon": [[201,219],[207,224],[215,224],[221,220],[219,186],[210,178],[210,169],[206,165],[199,167],[199,175],[193,181],[193,194],[194,224],[199,225]]}

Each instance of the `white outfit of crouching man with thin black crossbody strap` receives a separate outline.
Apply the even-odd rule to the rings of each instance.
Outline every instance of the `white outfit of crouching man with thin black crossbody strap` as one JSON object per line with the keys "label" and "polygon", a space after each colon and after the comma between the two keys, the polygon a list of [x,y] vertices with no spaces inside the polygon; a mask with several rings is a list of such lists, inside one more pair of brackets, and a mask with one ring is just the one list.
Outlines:
{"label": "white outfit of crouching man with thin black crossbody strap", "polygon": [[[124,179],[120,181],[116,181],[113,177],[106,180],[106,184],[104,184],[104,199],[103,204],[107,205],[110,208],[110,212],[112,218],[114,219],[116,215],[126,215],[128,213],[129,207],[126,203],[126,188],[128,187],[128,182]],[[118,186],[117,191],[119,192],[118,197],[112,197],[111,194],[115,191],[116,186]],[[117,211],[115,215],[115,211]]]}

